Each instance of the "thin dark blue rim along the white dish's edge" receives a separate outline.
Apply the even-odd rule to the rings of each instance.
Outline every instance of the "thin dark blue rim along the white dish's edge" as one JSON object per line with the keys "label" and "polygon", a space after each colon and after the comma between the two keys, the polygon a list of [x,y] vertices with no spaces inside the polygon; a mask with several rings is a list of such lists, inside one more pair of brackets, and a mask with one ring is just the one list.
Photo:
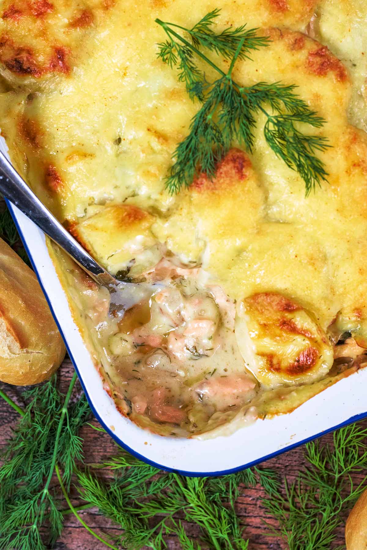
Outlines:
{"label": "thin dark blue rim along the white dish's edge", "polygon": [[72,354],[72,351],[70,350],[69,348],[69,345],[68,345],[68,342],[67,342],[67,339],[65,338],[64,336],[64,333],[61,329],[61,326],[57,320],[57,316],[55,315],[55,312],[53,310],[53,307],[52,307],[52,304],[51,304],[51,301],[50,299],[48,298],[48,294],[45,290],[45,288],[43,287],[43,284],[42,284],[42,281],[41,281],[41,278],[40,278],[40,274],[39,274],[39,271],[37,270],[37,267],[36,267],[36,263],[32,257],[32,254],[31,254],[31,251],[28,247],[28,244],[26,243],[26,240],[25,240],[25,237],[23,235],[23,232],[22,230],[20,229],[19,227],[19,223],[18,223],[18,220],[17,218],[15,217],[15,213],[14,213],[14,205],[12,204],[12,202],[10,202],[9,200],[6,199],[6,204],[9,208],[9,211],[10,211],[10,214],[12,215],[12,218],[13,218],[13,221],[15,223],[15,227],[17,227],[17,230],[18,230],[18,233],[20,235],[20,238],[21,238],[21,241],[24,245],[24,248],[25,248],[25,251],[26,253],[28,254],[28,257],[29,257],[29,260],[32,264],[32,267],[35,271],[35,274],[37,276],[37,279],[41,285],[41,288],[42,288],[42,292],[43,294],[45,294],[45,298],[46,298],[46,301],[47,301],[47,304],[48,306],[50,307],[50,310],[51,310],[51,313],[52,313],[52,316],[54,318],[54,321],[56,322],[57,324],[57,327],[60,331],[60,334],[62,335],[63,339],[64,339],[64,343],[65,343],[65,346],[66,346],[66,349],[68,351],[68,354],[69,354],[69,357],[70,357],[70,360],[72,361],[73,363],[73,366],[75,368],[75,371],[76,371],[76,374],[78,375],[78,378],[79,378],[79,381],[80,381],[80,384],[81,384],[81,387],[83,388],[83,391],[86,395],[86,398],[87,398],[87,401],[89,403],[89,406],[94,414],[94,416],[96,417],[96,419],[98,420],[98,422],[101,424],[101,426],[103,426],[103,428],[106,430],[106,432],[109,434],[109,436],[112,437],[112,439],[118,444],[120,445],[120,447],[122,447],[123,449],[127,450],[130,454],[132,454],[133,456],[135,456],[136,458],[139,458],[140,460],[143,460],[145,463],[147,464],[150,464],[151,466],[154,466],[160,470],[165,470],[165,471],[168,471],[168,472],[175,472],[177,474],[181,474],[183,476],[189,476],[189,477],[213,477],[213,476],[224,476],[224,475],[227,475],[227,474],[234,474],[234,472],[238,472],[240,470],[246,470],[247,468],[251,467],[251,466],[255,466],[256,464],[260,464],[261,462],[265,462],[266,460],[269,460],[271,458],[274,458],[275,456],[278,456],[280,454],[283,454],[283,453],[286,453],[288,450],[292,450],[292,449],[295,449],[296,447],[300,447],[300,445],[304,445],[305,443],[308,443],[309,441],[313,441],[314,439],[317,439],[318,437],[321,437],[321,436],[324,436],[326,433],[330,433],[330,432],[333,432],[335,430],[338,430],[338,428],[342,428],[343,426],[348,426],[348,424],[352,424],[353,422],[357,422],[358,420],[363,420],[365,418],[367,418],[367,411],[366,412],[362,412],[361,414],[358,414],[358,415],[354,415],[354,416],[351,416],[348,420],[344,420],[344,422],[341,422],[340,424],[337,424],[336,426],[332,426],[331,428],[327,428],[327,430],[324,430],[323,432],[319,432],[319,433],[316,433],[314,436],[310,436],[306,439],[302,439],[302,441],[299,441],[298,443],[293,443],[292,445],[287,445],[287,447],[283,447],[282,449],[280,450],[276,450],[275,452],[273,453],[270,453],[270,454],[267,454],[265,456],[262,456],[261,458],[259,459],[256,459],[256,460],[253,460],[252,462],[249,462],[247,464],[243,464],[242,466],[237,466],[235,468],[231,468],[229,470],[221,470],[221,471],[217,471],[217,472],[189,472],[189,471],[185,471],[185,470],[176,470],[174,468],[169,468],[167,466],[164,466],[162,464],[158,464],[156,462],[153,462],[152,460],[149,460],[149,458],[146,458],[146,456],[143,456],[139,453],[137,453],[134,449],[130,448],[129,445],[125,444],[122,439],[120,439],[119,437],[116,436],[116,434],[114,434],[112,432],[112,430],[106,425],[106,423],[101,419],[100,415],[97,413],[96,409],[94,408],[94,405],[92,404],[92,401],[91,401],[91,398],[84,386],[84,382],[83,382],[83,378],[80,376],[80,373],[79,373],[79,370],[78,370],[78,367],[76,366],[76,361],[73,357],[73,354]]}

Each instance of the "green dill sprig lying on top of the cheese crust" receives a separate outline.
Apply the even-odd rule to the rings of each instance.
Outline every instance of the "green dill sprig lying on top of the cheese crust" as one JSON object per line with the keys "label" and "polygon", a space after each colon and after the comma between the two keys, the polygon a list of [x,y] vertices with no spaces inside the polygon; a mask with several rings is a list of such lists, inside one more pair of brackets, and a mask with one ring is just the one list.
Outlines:
{"label": "green dill sprig lying on top of the cheese crust", "polygon": [[[232,79],[237,59],[251,59],[250,53],[269,45],[269,38],[256,36],[257,29],[245,25],[228,27],[220,33],[212,29],[219,9],[205,15],[192,29],[156,19],[168,39],[158,44],[158,57],[178,69],[178,80],[183,82],[191,100],[199,100],[201,108],[191,120],[189,135],[178,144],[173,153],[174,163],[166,178],[170,193],[188,188],[199,172],[212,179],[217,163],[228,152],[234,141],[247,152],[253,152],[256,116],[266,117],[264,136],[267,144],[289,168],[299,173],[305,182],[306,196],[321,181],[327,181],[327,172],[316,152],[330,147],[327,138],[309,135],[302,125],[321,128],[325,120],[311,111],[296,93],[296,86],[279,82],[241,86]],[[178,34],[179,29],[188,37]],[[228,72],[217,67],[200,48],[231,59]],[[195,61],[199,57],[210,65],[220,78],[209,83]]]}

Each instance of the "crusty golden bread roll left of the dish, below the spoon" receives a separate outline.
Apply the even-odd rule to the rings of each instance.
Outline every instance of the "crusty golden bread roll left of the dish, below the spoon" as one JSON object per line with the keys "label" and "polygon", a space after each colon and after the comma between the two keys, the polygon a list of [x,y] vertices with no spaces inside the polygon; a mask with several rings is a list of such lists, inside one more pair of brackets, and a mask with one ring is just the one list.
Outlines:
{"label": "crusty golden bread roll left of the dish, below the spoon", "polygon": [[17,386],[42,382],[64,355],[37,277],[0,239],[0,380]]}

